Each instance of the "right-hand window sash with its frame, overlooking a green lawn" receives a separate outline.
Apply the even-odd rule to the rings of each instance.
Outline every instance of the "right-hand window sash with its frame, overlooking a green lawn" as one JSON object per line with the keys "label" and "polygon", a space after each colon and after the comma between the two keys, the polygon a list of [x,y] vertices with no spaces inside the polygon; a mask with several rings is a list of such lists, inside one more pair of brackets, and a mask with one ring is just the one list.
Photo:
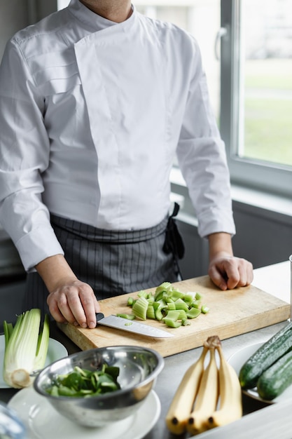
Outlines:
{"label": "right-hand window sash with its frame, overlooking a green lawn", "polygon": [[291,0],[221,8],[221,134],[232,182],[291,196]]}

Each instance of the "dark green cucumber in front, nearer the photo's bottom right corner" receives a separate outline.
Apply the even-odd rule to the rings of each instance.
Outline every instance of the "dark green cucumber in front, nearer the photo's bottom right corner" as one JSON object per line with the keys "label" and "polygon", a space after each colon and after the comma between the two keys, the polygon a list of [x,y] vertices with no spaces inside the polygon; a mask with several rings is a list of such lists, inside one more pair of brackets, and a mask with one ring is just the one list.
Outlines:
{"label": "dark green cucumber in front, nearer the photo's bottom right corner", "polygon": [[292,384],[292,352],[279,358],[260,375],[256,384],[260,398],[273,400]]}

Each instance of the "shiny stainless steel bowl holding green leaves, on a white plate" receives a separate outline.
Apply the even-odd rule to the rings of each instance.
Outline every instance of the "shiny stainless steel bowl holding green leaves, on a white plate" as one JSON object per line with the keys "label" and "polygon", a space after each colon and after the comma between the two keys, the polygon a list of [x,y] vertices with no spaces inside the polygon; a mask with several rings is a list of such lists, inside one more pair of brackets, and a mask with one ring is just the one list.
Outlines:
{"label": "shiny stainless steel bowl holding green leaves, on a white plate", "polygon": [[[59,374],[75,366],[102,369],[106,363],[120,368],[120,390],[90,398],[50,396],[48,386]],[[134,414],[144,403],[164,367],[164,359],[153,349],[139,346],[108,346],[74,353],[43,369],[34,380],[34,389],[64,417],[83,426],[104,426]]]}

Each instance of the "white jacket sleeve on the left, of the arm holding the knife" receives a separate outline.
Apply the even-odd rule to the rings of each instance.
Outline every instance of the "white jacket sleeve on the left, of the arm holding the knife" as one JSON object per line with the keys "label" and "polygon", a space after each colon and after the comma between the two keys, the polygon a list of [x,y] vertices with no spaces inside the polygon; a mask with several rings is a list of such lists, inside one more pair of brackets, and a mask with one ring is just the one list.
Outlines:
{"label": "white jacket sleeve on the left, of the arm holding the knife", "polygon": [[0,220],[26,270],[62,253],[41,199],[49,158],[43,111],[20,48],[11,41],[0,68]]}

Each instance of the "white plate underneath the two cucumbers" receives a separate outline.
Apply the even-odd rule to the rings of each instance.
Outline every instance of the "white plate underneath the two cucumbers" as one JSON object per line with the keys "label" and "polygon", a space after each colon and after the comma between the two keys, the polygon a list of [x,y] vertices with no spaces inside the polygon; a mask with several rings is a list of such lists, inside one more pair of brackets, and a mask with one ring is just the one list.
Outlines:
{"label": "white plate underneath the two cucumbers", "polygon": [[[237,375],[239,375],[239,371],[246,362],[246,360],[249,359],[255,353],[260,346],[262,346],[263,343],[256,343],[251,344],[250,346],[245,346],[244,348],[240,349],[239,351],[235,352],[232,356],[230,356],[228,363],[235,369],[237,372]],[[272,401],[263,400],[258,395],[258,391],[256,390],[256,387],[254,389],[242,389],[242,393],[244,393],[247,396],[250,396],[253,399],[262,401],[263,403],[267,404],[273,404],[273,403],[279,403],[280,401],[284,400],[290,400],[292,399],[292,386],[289,386],[281,395],[277,396],[277,398],[274,398]]]}

